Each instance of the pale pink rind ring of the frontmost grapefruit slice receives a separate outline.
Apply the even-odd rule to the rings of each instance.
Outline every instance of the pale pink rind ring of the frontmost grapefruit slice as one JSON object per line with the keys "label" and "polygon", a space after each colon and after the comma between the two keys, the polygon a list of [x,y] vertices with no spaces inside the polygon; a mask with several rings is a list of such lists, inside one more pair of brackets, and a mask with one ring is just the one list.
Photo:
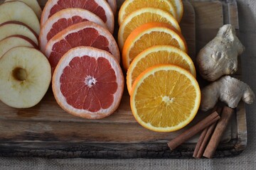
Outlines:
{"label": "pale pink rind ring of the frontmost grapefruit slice", "polygon": [[[97,113],[93,113],[90,111],[74,108],[73,106],[70,106],[65,96],[60,91],[60,77],[63,74],[63,69],[65,67],[68,67],[68,64],[71,60],[73,60],[73,57],[83,57],[83,56],[89,56],[89,57],[95,57],[96,59],[98,57],[105,57],[107,60],[109,60],[112,69],[114,69],[115,75],[117,77],[117,91],[114,93],[114,101],[112,103],[112,106],[107,109],[101,108],[100,111],[97,111]],[[122,74],[122,69],[119,66],[119,63],[117,60],[109,53],[104,50],[99,50],[95,47],[75,47],[68,52],[65,53],[65,55],[60,59],[60,62],[58,63],[57,67],[55,68],[55,72],[53,74],[53,94],[55,96],[55,99],[57,103],[60,105],[63,110],[67,111],[68,113],[82,117],[82,118],[88,118],[88,119],[100,119],[105,118],[108,115],[111,115],[114,113],[114,111],[117,110],[119,103],[122,98],[122,94],[124,91],[124,76]]]}

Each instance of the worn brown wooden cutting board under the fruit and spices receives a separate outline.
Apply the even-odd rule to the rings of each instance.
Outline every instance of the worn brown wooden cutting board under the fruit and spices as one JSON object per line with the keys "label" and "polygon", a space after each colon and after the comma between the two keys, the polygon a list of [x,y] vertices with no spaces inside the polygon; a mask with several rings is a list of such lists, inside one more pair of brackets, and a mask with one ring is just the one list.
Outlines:
{"label": "worn brown wooden cutting board under the fruit and spices", "polygon": [[[43,0],[39,2],[41,6],[46,4]],[[118,1],[118,6],[121,4],[122,1]],[[183,1],[183,4],[181,29],[193,60],[198,50],[215,37],[224,23],[232,23],[238,30],[235,0]],[[241,77],[241,72],[235,76]],[[200,77],[198,81],[202,86],[205,83]],[[0,102],[0,156],[191,158],[198,135],[172,152],[166,143],[206,115],[198,112],[190,125],[177,132],[152,132],[134,120],[126,90],[119,108],[110,117],[85,120],[65,113],[49,89],[33,108],[15,109]],[[245,106],[240,103],[215,157],[229,157],[242,152],[247,143],[246,130]]]}

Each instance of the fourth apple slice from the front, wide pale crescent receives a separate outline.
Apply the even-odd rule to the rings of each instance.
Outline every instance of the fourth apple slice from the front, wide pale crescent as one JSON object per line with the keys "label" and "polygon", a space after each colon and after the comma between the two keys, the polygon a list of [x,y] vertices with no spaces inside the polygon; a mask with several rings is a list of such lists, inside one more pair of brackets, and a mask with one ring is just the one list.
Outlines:
{"label": "fourth apple slice from the front, wide pale crescent", "polygon": [[40,33],[36,13],[22,1],[7,1],[0,5],[0,24],[6,21],[20,21],[32,28],[37,35]]}

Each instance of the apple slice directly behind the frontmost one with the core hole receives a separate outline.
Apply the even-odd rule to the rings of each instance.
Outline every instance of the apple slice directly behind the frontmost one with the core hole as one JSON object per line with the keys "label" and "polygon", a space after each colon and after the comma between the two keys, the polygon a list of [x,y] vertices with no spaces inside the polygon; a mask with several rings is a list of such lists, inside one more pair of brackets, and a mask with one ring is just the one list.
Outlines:
{"label": "apple slice directly behind the frontmost one with the core hole", "polygon": [[4,40],[0,41],[0,58],[8,50],[11,50],[11,48],[18,46],[38,48],[33,40],[23,35],[11,35],[10,37],[4,38]]}

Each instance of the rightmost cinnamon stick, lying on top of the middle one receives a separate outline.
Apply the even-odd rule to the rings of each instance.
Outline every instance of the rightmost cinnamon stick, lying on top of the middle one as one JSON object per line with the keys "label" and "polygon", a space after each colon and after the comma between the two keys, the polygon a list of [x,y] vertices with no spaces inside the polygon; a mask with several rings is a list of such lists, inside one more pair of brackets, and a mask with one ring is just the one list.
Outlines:
{"label": "rightmost cinnamon stick, lying on top of the middle one", "polygon": [[221,118],[216,125],[216,128],[213,132],[212,137],[210,137],[210,141],[206,147],[205,152],[203,152],[203,157],[207,157],[207,158],[213,157],[213,154],[215,153],[215,150],[217,149],[220,143],[220,139],[223,136],[223,133],[225,132],[225,129],[227,128],[233,113],[234,113],[233,108],[229,108],[228,106],[225,106],[223,108]]}

